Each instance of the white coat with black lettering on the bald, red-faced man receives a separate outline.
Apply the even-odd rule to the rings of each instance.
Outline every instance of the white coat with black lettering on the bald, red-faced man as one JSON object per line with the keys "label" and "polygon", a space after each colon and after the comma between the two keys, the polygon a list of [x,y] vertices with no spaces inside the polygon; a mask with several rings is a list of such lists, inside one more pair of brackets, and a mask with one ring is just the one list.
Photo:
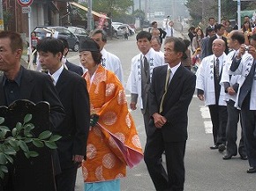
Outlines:
{"label": "white coat with black lettering on the bald, red-faced man", "polygon": [[[223,65],[226,62],[226,54],[223,53],[220,57],[220,68],[223,68]],[[205,104],[206,106],[215,105],[215,74],[214,74],[214,62],[215,55],[209,55],[205,57],[200,63],[200,68],[197,70],[197,80],[196,80],[196,89],[204,91]],[[221,70],[220,70],[221,71]],[[224,101],[225,91],[224,87],[221,86],[219,106],[227,106],[227,103]]]}

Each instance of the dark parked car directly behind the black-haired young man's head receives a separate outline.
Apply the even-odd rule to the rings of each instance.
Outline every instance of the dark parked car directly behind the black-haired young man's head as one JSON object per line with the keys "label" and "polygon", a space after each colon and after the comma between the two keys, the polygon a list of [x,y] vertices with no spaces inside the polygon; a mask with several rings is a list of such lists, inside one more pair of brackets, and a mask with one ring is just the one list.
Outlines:
{"label": "dark parked car directly behind the black-haired young man's head", "polygon": [[79,38],[63,26],[36,26],[34,33],[39,39],[44,37],[53,36],[56,38],[64,38],[68,41],[69,47],[77,52],[79,51]]}

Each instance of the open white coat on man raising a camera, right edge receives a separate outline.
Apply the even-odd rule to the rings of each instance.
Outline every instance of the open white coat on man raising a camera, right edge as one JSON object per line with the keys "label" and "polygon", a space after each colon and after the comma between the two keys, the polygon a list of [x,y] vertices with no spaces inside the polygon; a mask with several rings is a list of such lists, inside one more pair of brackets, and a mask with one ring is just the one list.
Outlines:
{"label": "open white coat on man raising a camera, right edge", "polygon": [[[239,95],[240,93],[240,89],[242,87],[242,85],[245,82],[245,78],[248,76],[251,68],[252,68],[252,63],[253,63],[253,57],[252,55],[245,53],[245,55],[242,56],[242,60],[237,68],[236,71],[230,71],[230,74],[234,74],[234,75],[241,75],[241,77],[238,80],[238,84],[239,84],[239,88],[238,88],[238,92],[237,95]],[[251,100],[250,100],[250,110],[256,110],[256,99],[252,99],[252,98],[256,98],[256,77],[254,76],[253,78],[253,82],[252,82],[252,90],[251,90]],[[236,100],[236,104],[235,107],[237,107],[238,109],[240,109],[240,107],[238,107],[238,96],[237,96],[237,100]]]}

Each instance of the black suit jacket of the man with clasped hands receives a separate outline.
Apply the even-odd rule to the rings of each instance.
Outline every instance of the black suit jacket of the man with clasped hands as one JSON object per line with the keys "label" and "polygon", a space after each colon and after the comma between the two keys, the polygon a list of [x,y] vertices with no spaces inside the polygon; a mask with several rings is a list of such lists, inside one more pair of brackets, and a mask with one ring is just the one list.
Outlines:
{"label": "black suit jacket of the man with clasped hands", "polygon": [[[149,114],[159,113],[159,108],[164,93],[165,79],[168,66],[154,68],[152,85],[149,91]],[[167,123],[162,127],[163,140],[167,142],[181,142],[187,139],[187,111],[195,90],[196,76],[190,71],[179,66],[172,77],[165,99],[162,104],[162,116]],[[149,133],[152,136],[155,130],[154,119],[149,121]],[[148,136],[148,137],[149,137]],[[150,138],[150,137],[149,137]]]}

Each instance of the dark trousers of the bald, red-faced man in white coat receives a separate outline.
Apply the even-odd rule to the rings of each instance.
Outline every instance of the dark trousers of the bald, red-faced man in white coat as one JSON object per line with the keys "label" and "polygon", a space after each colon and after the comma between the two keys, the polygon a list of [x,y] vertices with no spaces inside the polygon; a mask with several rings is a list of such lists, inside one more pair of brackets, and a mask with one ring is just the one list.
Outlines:
{"label": "dark trousers of the bald, red-faced man in white coat", "polygon": [[218,105],[210,105],[208,107],[213,123],[214,143],[215,145],[226,144],[227,107]]}

